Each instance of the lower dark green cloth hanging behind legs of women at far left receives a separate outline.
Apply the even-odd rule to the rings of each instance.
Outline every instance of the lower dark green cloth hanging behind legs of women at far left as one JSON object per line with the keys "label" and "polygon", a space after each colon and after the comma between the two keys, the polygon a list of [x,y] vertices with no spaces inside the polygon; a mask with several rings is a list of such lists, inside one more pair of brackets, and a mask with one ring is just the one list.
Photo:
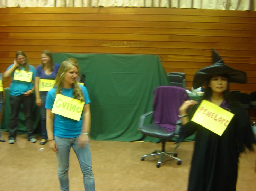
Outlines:
{"label": "lower dark green cloth hanging behind legs of women at far left", "polygon": [[[9,129],[9,122],[10,122],[10,115],[11,115],[11,106],[10,106],[10,88],[5,88],[5,103],[3,107],[3,115],[1,121],[1,128],[4,131],[8,131]],[[33,93],[35,98],[35,94]],[[35,99],[34,99],[35,100]],[[35,101],[33,103],[32,108],[32,117],[34,122],[34,133],[40,133],[40,108],[36,106]],[[25,126],[25,116],[23,113],[23,105],[21,105],[21,109],[19,112],[19,121],[18,121],[18,134],[26,134],[26,126]]]}

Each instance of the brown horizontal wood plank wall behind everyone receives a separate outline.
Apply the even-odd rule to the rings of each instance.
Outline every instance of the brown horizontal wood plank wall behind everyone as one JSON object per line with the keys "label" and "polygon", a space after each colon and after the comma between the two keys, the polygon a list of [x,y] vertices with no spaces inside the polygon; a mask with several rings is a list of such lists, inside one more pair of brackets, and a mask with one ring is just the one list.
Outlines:
{"label": "brown horizontal wood plank wall behind everyone", "polygon": [[[256,11],[165,8],[0,8],[0,72],[25,51],[34,66],[43,50],[158,54],[166,72],[195,72],[211,63],[211,48],[247,73],[256,91]],[[8,87],[10,80],[4,82]]]}

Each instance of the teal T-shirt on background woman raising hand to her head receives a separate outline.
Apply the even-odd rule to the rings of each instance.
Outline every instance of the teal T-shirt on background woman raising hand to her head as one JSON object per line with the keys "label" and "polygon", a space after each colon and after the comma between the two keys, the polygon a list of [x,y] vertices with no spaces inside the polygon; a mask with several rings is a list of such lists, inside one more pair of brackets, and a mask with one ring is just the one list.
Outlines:
{"label": "teal T-shirt on background woman raising hand to her head", "polygon": [[[13,64],[11,64],[7,69],[9,70],[11,67],[13,66]],[[20,67],[20,70],[24,70],[24,67]],[[35,74],[36,74],[36,69],[34,66],[29,65],[29,71],[32,72],[32,81],[35,80]],[[15,70],[12,72],[11,76],[12,76],[12,81],[10,84],[10,95],[11,96],[19,96],[21,94],[24,94],[26,91],[31,90],[33,88],[33,83],[32,82],[24,82],[24,81],[20,81],[20,80],[14,80],[14,72]]]}

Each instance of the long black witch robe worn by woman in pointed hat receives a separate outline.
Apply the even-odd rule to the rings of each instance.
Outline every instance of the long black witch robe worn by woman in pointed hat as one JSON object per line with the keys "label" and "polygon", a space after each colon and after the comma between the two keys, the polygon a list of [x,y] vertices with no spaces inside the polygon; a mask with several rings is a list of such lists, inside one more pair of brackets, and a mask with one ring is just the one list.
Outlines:
{"label": "long black witch robe worn by woman in pointed hat", "polygon": [[[190,117],[198,106],[191,108]],[[180,141],[197,131],[188,191],[236,191],[239,153],[245,146],[252,150],[256,141],[245,110],[227,107],[235,115],[222,136],[192,121],[182,127]]]}

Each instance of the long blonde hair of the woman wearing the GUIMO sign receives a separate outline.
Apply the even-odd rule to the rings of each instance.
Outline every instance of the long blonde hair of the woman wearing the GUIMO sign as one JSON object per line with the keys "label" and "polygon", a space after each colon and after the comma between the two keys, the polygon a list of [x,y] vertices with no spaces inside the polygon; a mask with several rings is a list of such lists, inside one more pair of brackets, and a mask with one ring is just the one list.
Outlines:
{"label": "long blonde hair of the woman wearing the GUIMO sign", "polygon": [[[56,76],[56,83],[55,86],[57,87],[56,94],[60,94],[63,88],[63,80],[66,75],[66,72],[72,67],[77,67],[78,73],[77,76],[79,76],[79,67],[77,63],[71,62],[71,61],[64,61],[61,63],[59,71]],[[73,87],[73,98],[78,99],[80,101],[85,101],[85,98],[83,97],[82,90],[78,84],[78,78],[75,80],[75,82],[72,84]]]}

